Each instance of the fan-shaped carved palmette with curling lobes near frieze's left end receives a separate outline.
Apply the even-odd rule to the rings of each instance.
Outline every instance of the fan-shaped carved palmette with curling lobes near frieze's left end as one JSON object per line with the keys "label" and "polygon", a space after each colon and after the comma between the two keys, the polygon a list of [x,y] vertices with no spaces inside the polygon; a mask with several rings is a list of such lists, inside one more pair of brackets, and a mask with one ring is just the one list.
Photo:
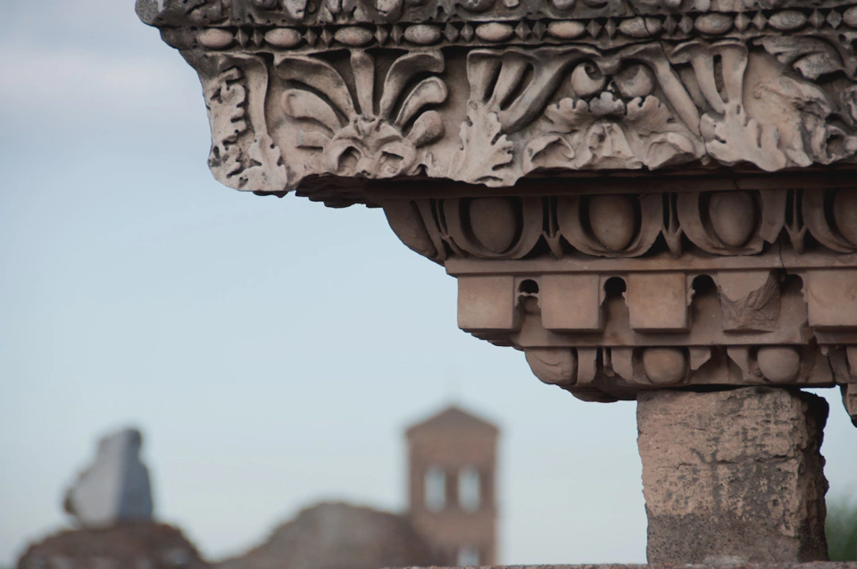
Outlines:
{"label": "fan-shaped carved palmette with curling lobes near frieze's left end", "polygon": [[[329,62],[287,54],[275,68],[286,88],[281,110],[296,120],[296,147],[312,151],[298,177],[335,174],[370,179],[412,176],[428,163],[426,146],[444,135],[440,112],[431,107],[448,95],[439,53],[405,54],[395,59],[376,93],[372,55],[350,54],[354,95]],[[428,76],[422,78],[420,77]]]}

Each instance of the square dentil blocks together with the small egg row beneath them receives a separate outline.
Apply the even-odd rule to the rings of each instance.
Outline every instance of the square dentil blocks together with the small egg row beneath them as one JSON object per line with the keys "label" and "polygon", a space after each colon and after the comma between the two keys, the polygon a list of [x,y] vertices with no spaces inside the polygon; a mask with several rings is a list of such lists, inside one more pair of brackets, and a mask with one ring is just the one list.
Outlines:
{"label": "square dentil blocks together with the small egg row beneath them", "polygon": [[775,258],[753,258],[756,268],[685,258],[675,267],[517,261],[517,274],[504,275],[496,261],[460,261],[447,270],[459,279],[463,330],[524,351],[543,382],[583,399],[839,383],[857,416],[857,268],[761,268]]}

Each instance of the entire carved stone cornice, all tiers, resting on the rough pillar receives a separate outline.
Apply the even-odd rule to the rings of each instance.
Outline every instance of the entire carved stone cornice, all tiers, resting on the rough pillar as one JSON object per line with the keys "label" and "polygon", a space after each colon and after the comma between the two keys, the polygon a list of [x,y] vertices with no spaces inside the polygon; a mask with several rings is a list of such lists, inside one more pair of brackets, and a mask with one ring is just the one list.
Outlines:
{"label": "entire carved stone cornice, all tiers, resting on the rough pillar", "polygon": [[459,324],[587,400],[842,385],[857,2],[137,0],[223,184],[382,207]]}

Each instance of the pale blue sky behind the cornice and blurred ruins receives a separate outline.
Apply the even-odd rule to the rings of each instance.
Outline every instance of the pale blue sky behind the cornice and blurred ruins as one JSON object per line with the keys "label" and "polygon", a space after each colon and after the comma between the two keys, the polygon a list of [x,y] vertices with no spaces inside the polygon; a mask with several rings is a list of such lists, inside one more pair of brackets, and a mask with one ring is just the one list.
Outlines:
{"label": "pale blue sky behind the cornice and blurred ruins", "polygon": [[[132,0],[0,0],[0,565],[67,522],[112,428],[219,557],[318,499],[404,507],[402,429],[451,397],[503,426],[504,563],[645,561],[633,403],[459,331],[454,279],[379,210],[220,186],[207,128]],[[857,430],[826,395],[838,495]]]}

